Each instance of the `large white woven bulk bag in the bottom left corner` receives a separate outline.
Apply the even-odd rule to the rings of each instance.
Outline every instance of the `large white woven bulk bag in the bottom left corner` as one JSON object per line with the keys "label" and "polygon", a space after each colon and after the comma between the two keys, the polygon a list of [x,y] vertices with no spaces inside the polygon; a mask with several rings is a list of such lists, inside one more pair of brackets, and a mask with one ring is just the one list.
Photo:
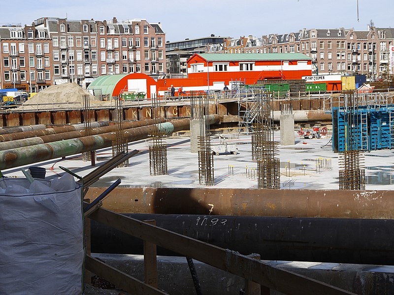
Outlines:
{"label": "large white woven bulk bag in the bottom left corner", "polygon": [[[44,193],[28,191],[45,184]],[[56,191],[46,180],[1,178],[0,187],[0,294],[82,294],[81,186]],[[27,194],[12,194],[23,187]]]}

